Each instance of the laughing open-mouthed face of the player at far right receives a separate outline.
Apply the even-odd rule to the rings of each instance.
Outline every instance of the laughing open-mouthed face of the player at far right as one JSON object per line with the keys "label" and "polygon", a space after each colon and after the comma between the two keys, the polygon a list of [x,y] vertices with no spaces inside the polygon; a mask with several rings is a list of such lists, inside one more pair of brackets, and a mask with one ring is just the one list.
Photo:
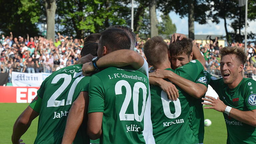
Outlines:
{"label": "laughing open-mouthed face of the player at far right", "polygon": [[220,61],[220,72],[225,84],[232,84],[241,77],[243,65],[235,54],[225,55]]}

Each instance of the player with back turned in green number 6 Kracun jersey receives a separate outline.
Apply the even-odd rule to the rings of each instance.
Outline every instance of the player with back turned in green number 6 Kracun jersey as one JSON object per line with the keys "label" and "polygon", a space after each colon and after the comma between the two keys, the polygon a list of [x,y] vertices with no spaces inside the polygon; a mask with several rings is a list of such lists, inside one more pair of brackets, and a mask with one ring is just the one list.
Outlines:
{"label": "player with back turned in green number 6 Kracun jersey", "polygon": [[[192,41],[189,41],[186,38],[177,41],[176,47],[178,46],[183,46],[185,47],[184,49],[190,49],[192,51]],[[185,51],[184,49],[182,51]],[[168,46],[161,37],[153,37],[149,39],[145,43],[144,52],[147,61],[149,64],[153,65],[154,68],[173,71],[188,80],[197,80],[197,76],[203,70],[202,64],[197,60],[176,70],[171,70],[169,68],[171,63],[167,55]],[[166,93],[162,91],[160,87],[151,87],[151,119],[156,143],[195,143],[190,120],[193,110],[193,99],[182,89],[178,89],[179,98],[177,101],[173,101],[167,100]],[[169,106],[170,103],[173,106]],[[175,136],[175,139],[173,139],[173,136]]]}

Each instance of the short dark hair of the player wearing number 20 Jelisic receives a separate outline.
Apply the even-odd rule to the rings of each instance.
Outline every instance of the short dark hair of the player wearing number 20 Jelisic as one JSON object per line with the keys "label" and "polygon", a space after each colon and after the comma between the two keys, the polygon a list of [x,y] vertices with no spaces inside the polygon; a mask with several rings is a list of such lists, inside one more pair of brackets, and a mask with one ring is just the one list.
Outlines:
{"label": "short dark hair of the player wearing number 20 Jelisic", "polygon": [[113,52],[120,49],[130,49],[131,39],[124,30],[108,28],[101,32],[101,44]]}

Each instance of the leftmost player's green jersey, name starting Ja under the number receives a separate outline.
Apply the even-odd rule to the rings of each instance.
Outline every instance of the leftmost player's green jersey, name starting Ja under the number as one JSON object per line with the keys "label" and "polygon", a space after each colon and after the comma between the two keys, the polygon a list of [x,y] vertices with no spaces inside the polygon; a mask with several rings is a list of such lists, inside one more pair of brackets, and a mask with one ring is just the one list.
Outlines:
{"label": "leftmost player's green jersey, name starting Ja under the number", "polygon": [[[60,144],[72,103],[85,91],[90,76],[83,76],[82,65],[62,68],[48,76],[30,107],[39,113],[35,144]],[[88,144],[86,124],[82,124],[74,143]]]}

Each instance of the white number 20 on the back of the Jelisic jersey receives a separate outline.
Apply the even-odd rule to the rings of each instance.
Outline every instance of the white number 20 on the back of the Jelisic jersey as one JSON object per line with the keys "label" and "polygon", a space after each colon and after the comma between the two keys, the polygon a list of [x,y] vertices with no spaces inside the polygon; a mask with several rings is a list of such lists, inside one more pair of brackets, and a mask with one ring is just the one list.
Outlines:
{"label": "white number 20 on the back of the Jelisic jersey", "polygon": [[[138,122],[141,122],[143,119],[144,111],[146,108],[146,96],[147,96],[147,87],[142,82],[136,82],[133,87],[133,94],[130,84],[125,80],[120,80],[115,85],[115,93],[116,95],[122,94],[122,86],[126,88],[126,95],[121,107],[119,117],[120,120],[125,121],[134,121],[134,119]],[[142,102],[142,110],[141,114],[138,114],[138,103],[139,103],[139,89],[143,90],[143,102]],[[126,110],[133,96],[133,111],[134,114],[126,114]]]}

